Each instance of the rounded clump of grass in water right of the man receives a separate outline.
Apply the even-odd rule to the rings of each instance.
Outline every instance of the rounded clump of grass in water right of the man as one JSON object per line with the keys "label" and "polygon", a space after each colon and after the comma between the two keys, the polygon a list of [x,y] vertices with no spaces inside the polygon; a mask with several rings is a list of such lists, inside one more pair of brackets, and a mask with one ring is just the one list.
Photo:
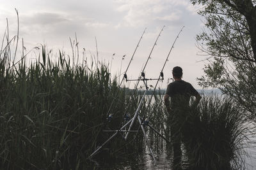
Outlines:
{"label": "rounded clump of grass in water right of the man", "polygon": [[192,169],[243,169],[244,110],[228,97],[210,95],[188,113],[182,136]]}

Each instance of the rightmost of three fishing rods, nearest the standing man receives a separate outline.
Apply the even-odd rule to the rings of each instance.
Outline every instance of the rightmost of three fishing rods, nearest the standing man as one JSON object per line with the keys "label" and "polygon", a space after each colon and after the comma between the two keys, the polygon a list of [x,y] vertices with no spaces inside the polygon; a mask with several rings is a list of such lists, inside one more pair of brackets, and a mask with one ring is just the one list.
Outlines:
{"label": "rightmost of three fishing rods, nearest the standing man", "polygon": [[[172,52],[172,49],[174,48],[174,45],[175,45],[177,39],[179,38],[180,32],[182,32],[183,29],[184,29],[184,26],[180,29],[179,33],[177,34],[175,40],[173,41],[172,48],[170,49],[170,51],[169,51],[169,53],[168,53],[168,55],[167,55],[167,57],[166,57],[166,60],[164,61],[164,65],[163,65],[163,67],[162,67],[162,69],[161,69],[159,78],[158,78],[158,80],[157,80],[157,82],[156,82],[156,85],[155,85],[155,87],[154,87],[154,90],[153,90],[153,93],[152,93],[152,95],[151,95],[151,97],[150,97],[150,100],[148,101],[148,107],[150,106],[150,103],[151,103],[151,101],[152,101],[152,98],[153,98],[153,96],[154,96],[154,93],[156,92],[156,88],[157,88],[157,84],[159,83],[159,80],[163,80],[163,70],[164,70],[164,67],[165,67],[165,65],[166,65],[166,62],[167,62],[168,59],[169,59],[170,53]],[[161,79],[161,78],[162,78],[162,79]],[[148,107],[146,108],[146,111],[145,111],[145,113],[143,114],[142,120],[140,121],[140,122],[141,122],[140,125],[143,125],[143,122],[145,122],[145,115],[146,115],[146,113],[147,113]],[[140,117],[138,117],[138,118],[140,119]],[[139,131],[139,129],[140,129],[140,127],[138,127],[138,131]],[[153,129],[153,130],[154,130],[154,129]],[[138,134],[138,131],[136,132],[136,135],[135,135],[134,139],[136,138],[136,136],[137,136],[137,134]]]}

